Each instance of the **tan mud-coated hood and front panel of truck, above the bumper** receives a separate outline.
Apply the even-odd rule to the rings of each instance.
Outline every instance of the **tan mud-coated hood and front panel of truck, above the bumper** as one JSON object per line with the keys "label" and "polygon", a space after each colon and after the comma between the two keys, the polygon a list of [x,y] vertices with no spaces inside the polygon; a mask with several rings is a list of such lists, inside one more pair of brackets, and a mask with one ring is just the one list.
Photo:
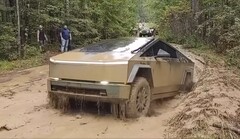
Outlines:
{"label": "tan mud-coated hood and front panel of truck, above the bumper", "polygon": [[128,60],[132,56],[114,52],[67,52],[50,59],[49,76],[67,80],[126,83]]}

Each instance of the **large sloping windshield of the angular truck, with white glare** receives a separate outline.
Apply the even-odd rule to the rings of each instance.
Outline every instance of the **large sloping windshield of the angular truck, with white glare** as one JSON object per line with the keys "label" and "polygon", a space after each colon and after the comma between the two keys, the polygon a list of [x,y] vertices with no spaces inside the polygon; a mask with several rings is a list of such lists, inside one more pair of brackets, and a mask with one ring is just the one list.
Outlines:
{"label": "large sloping windshield of the angular truck, with white glare", "polygon": [[131,52],[151,41],[150,38],[120,38],[103,40],[80,49],[80,52]]}

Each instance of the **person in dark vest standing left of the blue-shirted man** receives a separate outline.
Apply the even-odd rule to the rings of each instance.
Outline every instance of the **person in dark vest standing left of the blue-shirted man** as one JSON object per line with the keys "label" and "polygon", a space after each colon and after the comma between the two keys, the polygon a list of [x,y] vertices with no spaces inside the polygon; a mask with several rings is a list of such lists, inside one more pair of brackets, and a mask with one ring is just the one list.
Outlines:
{"label": "person in dark vest standing left of the blue-shirted man", "polygon": [[39,49],[42,51],[42,48],[45,46],[46,41],[48,41],[47,35],[45,34],[42,25],[39,26],[39,29],[37,31],[37,41],[39,43]]}

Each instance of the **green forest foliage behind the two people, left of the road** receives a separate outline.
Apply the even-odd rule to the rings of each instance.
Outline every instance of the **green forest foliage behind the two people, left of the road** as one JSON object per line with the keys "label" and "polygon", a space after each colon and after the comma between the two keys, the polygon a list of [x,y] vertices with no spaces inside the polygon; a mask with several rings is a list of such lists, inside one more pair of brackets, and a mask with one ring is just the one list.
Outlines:
{"label": "green forest foliage behind the two people, left of the road", "polygon": [[[60,29],[68,25],[73,36],[71,43],[80,47],[100,39],[128,36],[137,20],[137,0],[19,0],[19,3],[21,49],[24,48],[25,58],[38,55],[32,46],[36,45],[39,25],[43,25],[50,45],[60,43]],[[4,60],[17,57],[14,4],[0,1],[0,59]]]}

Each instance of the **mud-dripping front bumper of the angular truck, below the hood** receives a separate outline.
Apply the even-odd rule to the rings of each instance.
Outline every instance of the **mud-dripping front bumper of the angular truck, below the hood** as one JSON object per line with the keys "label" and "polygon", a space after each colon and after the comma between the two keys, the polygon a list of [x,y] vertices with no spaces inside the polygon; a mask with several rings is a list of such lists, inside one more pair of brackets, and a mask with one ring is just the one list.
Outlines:
{"label": "mud-dripping front bumper of the angular truck, below the hood", "polygon": [[120,103],[130,97],[131,86],[48,79],[48,92],[87,101]]}

